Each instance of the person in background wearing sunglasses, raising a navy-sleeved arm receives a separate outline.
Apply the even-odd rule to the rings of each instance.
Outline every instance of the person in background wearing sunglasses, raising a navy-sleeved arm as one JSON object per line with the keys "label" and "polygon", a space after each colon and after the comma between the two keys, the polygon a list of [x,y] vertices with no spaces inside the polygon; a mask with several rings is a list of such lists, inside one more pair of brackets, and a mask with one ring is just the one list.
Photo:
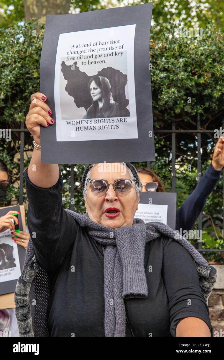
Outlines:
{"label": "person in background wearing sunglasses, raising a navy-sleeved arm", "polygon": [[[200,215],[207,197],[214,190],[224,166],[224,138],[221,136],[217,141],[212,156],[212,161],[201,177],[196,188],[177,209],[176,229],[191,230]],[[146,167],[137,167],[142,185],[142,192],[165,192],[162,181],[154,171]]]}

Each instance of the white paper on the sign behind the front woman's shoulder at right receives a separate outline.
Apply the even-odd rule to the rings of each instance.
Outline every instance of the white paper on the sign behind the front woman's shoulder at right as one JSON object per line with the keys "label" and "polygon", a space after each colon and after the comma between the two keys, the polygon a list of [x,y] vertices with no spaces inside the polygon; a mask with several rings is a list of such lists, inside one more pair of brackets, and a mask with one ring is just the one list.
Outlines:
{"label": "white paper on the sign behind the front woman's shoulder at right", "polygon": [[167,211],[168,205],[138,204],[134,218],[142,219],[145,223],[157,221],[167,225]]}

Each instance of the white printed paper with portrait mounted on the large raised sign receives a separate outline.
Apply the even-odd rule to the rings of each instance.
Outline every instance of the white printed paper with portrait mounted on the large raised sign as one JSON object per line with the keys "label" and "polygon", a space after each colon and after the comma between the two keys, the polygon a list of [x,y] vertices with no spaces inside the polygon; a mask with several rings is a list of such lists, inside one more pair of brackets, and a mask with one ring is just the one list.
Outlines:
{"label": "white printed paper with portrait mounted on the large raised sign", "polygon": [[[54,81],[57,141],[138,138],[135,28],[132,24],[60,34]],[[95,89],[94,76],[111,86],[109,98],[108,89],[103,94]],[[99,99],[106,106],[104,115],[96,112]]]}

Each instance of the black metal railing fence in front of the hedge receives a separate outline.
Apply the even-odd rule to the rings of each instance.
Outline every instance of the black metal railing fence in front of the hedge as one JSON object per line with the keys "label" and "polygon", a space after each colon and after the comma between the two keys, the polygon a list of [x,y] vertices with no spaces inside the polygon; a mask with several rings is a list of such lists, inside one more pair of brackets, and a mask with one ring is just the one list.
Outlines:
{"label": "black metal railing fence in front of the hedge", "polygon": [[[224,129],[224,121],[223,121]],[[172,123],[172,130],[155,130],[154,133],[166,133],[172,134],[172,192],[176,190],[176,134],[177,133],[195,133],[197,132],[197,179],[201,179],[201,134],[209,133],[214,134],[212,130],[200,130],[201,122],[200,115],[197,116],[197,129],[196,130],[175,130],[175,123]],[[24,129],[24,122],[21,122],[20,129],[12,129],[11,131],[20,132],[20,189],[19,189],[19,204],[23,204],[23,171],[24,171],[24,132],[27,132],[28,129]],[[147,162],[147,167],[150,168],[150,162]],[[224,169],[222,170],[223,179],[224,179]],[[70,176],[70,198],[74,198],[74,166],[71,165],[71,176]],[[70,210],[74,209],[74,204],[70,202]],[[223,229],[224,229],[224,181],[223,181]],[[198,230],[202,230],[202,214],[200,213],[198,217]],[[202,241],[198,243],[198,251],[200,252],[223,252],[223,249],[202,249]]]}

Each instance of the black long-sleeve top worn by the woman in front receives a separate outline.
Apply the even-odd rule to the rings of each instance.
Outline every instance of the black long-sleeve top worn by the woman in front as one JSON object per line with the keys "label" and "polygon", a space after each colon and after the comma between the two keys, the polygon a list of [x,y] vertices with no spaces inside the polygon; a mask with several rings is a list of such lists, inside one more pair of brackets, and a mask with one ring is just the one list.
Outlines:
{"label": "black long-sleeve top worn by the woman in front", "polygon": [[[63,208],[61,173],[55,185],[40,188],[29,180],[27,170],[27,224],[37,262],[51,278],[50,336],[104,337],[102,247]],[[189,316],[204,320],[212,336],[209,309],[189,252],[176,240],[160,237],[146,243],[144,266],[148,296],[124,300],[126,336],[176,336],[177,324]]]}

